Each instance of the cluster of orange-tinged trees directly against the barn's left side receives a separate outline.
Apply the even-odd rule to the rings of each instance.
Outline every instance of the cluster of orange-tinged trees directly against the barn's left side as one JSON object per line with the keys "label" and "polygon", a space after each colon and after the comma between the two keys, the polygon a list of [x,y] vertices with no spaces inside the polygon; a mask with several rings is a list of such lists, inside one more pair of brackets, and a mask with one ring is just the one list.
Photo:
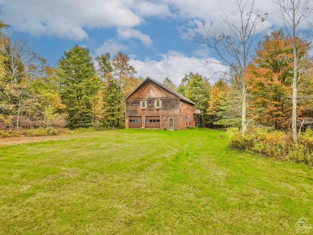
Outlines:
{"label": "cluster of orange-tinged trees directly against the barn's left side", "polygon": [[[102,54],[96,58],[97,72],[103,83],[99,97],[95,102],[95,123],[101,123],[107,128],[122,127],[125,123],[125,106],[122,100],[131,93],[140,83],[134,77],[134,67],[129,63],[129,57],[118,52],[110,60],[110,53]],[[101,107],[101,108],[99,108]]]}

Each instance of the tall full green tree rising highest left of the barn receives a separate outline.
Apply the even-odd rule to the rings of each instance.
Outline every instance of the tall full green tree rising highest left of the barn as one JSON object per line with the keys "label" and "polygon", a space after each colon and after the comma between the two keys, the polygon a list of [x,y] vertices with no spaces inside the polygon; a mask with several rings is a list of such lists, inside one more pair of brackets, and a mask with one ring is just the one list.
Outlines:
{"label": "tall full green tree rising highest left of the barn", "polygon": [[66,105],[70,128],[92,125],[92,100],[101,86],[89,50],[78,47],[65,51],[58,63],[60,94]]}

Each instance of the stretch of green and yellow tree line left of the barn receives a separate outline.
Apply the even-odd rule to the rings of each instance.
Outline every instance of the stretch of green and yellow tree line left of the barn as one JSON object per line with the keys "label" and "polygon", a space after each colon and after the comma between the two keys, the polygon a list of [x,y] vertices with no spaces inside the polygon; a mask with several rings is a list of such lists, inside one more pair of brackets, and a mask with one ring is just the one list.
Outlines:
{"label": "stretch of green and yellow tree line left of the barn", "polygon": [[96,70],[76,45],[53,68],[26,41],[1,35],[0,53],[1,129],[122,128],[122,100],[142,80],[121,52],[97,56]]}

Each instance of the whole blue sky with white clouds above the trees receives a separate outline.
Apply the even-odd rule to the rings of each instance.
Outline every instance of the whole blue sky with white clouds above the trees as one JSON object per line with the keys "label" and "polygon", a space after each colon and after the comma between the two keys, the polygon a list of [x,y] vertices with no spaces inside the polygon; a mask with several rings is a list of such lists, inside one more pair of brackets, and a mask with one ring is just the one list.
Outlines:
{"label": "whole blue sky with white clouds above the trees", "polygon": [[[0,0],[0,8],[9,33],[28,40],[52,66],[77,44],[94,58],[122,51],[137,76],[160,82],[169,77],[177,85],[191,71],[213,80],[224,69],[203,66],[215,55],[188,34],[202,23],[221,24],[222,9],[233,19],[239,16],[234,0]],[[282,26],[271,0],[258,0],[254,8],[268,13],[267,32]]]}

